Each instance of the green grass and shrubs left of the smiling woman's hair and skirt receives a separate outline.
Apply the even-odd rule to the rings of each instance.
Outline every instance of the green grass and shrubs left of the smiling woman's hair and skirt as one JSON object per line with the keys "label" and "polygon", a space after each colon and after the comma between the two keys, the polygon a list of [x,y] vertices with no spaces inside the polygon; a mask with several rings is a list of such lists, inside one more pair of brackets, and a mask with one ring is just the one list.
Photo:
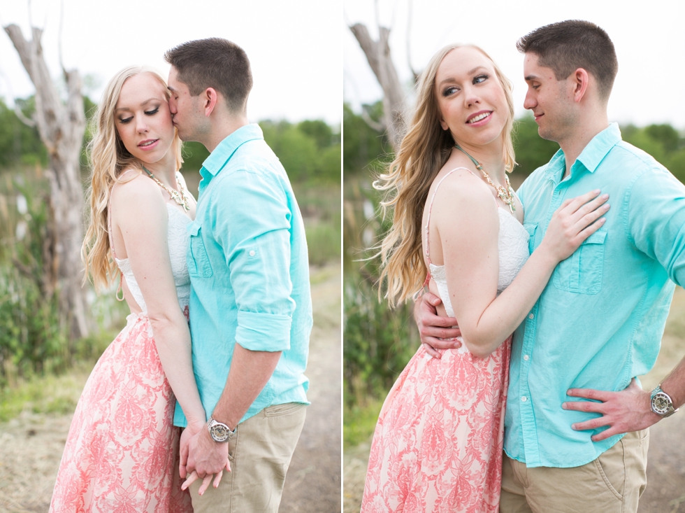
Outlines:
{"label": "green grass and shrubs left of the smiling woman's hair and skirt", "polygon": [[373,433],[390,387],[419,347],[413,304],[390,309],[379,299],[378,258],[373,246],[387,230],[377,216],[378,197],[368,178],[345,180],[343,202],[343,443]]}

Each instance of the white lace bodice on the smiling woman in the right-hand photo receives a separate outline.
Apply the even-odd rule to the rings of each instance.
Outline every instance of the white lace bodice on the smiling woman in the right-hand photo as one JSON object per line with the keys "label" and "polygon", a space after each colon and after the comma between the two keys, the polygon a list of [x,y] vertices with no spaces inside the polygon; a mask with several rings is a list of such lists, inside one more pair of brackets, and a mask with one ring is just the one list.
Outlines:
{"label": "white lace bodice on the smiling woman in the right-hand photo", "polygon": [[[499,295],[509,286],[516,275],[519,274],[521,267],[524,267],[530,253],[528,252],[528,239],[530,236],[526,229],[502,207],[497,209],[500,218],[500,231],[497,239],[497,250],[499,253],[500,274],[497,279],[497,294]],[[445,276],[445,266],[429,264],[431,277],[438,286],[440,299],[445,305],[445,311],[450,317],[454,317],[452,302],[449,300],[447,292],[447,276]]]}

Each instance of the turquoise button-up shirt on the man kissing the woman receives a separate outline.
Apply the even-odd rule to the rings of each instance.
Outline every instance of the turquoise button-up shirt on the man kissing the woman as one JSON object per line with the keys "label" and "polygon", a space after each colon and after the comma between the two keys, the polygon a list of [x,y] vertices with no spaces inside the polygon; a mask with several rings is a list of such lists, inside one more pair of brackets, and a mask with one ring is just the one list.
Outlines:
{"label": "turquoise button-up shirt on the man kissing the woman", "polygon": [[[307,241],[288,176],[259,125],[226,137],[200,174],[187,263],[193,367],[205,412],[209,417],[224,390],[236,343],[282,351],[240,422],[271,405],[309,404]],[[187,425],[178,404],[174,424]]]}

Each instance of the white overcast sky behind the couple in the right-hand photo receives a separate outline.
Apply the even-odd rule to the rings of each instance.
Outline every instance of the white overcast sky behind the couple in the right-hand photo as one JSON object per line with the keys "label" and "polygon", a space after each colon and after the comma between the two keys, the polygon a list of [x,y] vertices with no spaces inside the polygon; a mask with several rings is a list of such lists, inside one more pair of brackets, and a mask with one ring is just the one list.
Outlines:
{"label": "white overcast sky behind the couple in the right-hand photo", "polygon": [[[410,0],[378,0],[380,23],[392,27],[391,51],[401,80],[410,82],[407,34]],[[410,57],[417,71],[449,43],[481,46],[514,83],[517,116],[526,84],[520,36],[542,25],[589,20],[614,42],[619,74],[609,102],[610,120],[636,125],[670,123],[685,129],[685,1],[683,0],[414,0]],[[347,25],[362,22],[377,37],[374,2],[344,0],[344,97],[354,108],[381,97],[380,87]]]}

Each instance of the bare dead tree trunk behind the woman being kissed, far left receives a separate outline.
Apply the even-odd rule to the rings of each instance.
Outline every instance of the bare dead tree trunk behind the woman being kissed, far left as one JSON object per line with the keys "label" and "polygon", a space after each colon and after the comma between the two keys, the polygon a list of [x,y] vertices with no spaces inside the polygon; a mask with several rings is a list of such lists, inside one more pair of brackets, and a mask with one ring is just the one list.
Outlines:
{"label": "bare dead tree trunk behind the woman being kissed, far left", "polygon": [[[67,71],[62,66],[66,83],[66,101],[52,83],[50,71],[43,58],[42,29],[31,27],[27,41],[17,25],[4,27],[36,87],[36,112],[33,120],[38,126],[41,141],[48,149],[50,169],[50,211],[54,216],[54,237],[50,246],[54,252],[44,262],[46,271],[57,269],[52,290],[59,293],[62,318],[69,324],[72,338],[87,335],[87,302],[82,287],[80,248],[83,241],[83,190],[79,157],[85,132],[85,114],[81,94],[81,78],[77,70]],[[61,60],[61,59],[60,59]]]}

